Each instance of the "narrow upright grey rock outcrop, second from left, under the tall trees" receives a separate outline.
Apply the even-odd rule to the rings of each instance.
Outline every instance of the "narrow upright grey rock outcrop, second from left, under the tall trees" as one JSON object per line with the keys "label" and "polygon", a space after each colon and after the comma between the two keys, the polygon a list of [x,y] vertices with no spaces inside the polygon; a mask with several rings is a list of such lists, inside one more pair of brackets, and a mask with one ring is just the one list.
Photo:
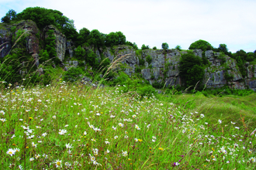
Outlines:
{"label": "narrow upright grey rock outcrop, second from left, under the tall trees", "polygon": [[47,32],[52,29],[54,30],[54,36],[55,39],[55,49],[57,53],[57,57],[61,60],[61,62],[64,60],[64,56],[66,53],[66,46],[67,46],[67,39],[64,34],[62,34],[55,26],[46,26],[43,29],[43,35],[44,39],[47,38]]}

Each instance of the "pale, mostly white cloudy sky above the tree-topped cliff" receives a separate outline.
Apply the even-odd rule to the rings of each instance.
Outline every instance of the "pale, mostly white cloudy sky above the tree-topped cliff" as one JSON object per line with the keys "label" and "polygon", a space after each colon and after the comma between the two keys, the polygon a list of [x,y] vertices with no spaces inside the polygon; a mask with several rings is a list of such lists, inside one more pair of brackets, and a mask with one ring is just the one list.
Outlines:
{"label": "pale, mostly white cloudy sky above the tree-topped cliff", "polygon": [[0,0],[0,18],[9,9],[51,8],[82,28],[123,32],[126,40],[161,49],[189,49],[199,39],[212,46],[224,43],[232,53],[256,49],[255,0]]}

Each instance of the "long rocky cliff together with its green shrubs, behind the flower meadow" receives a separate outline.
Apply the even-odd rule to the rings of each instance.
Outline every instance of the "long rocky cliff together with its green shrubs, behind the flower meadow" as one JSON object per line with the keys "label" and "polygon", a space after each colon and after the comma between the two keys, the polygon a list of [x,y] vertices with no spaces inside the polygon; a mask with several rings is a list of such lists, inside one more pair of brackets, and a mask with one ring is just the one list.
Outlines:
{"label": "long rocky cliff together with its green shrubs, behind the flower meadow", "polygon": [[[73,74],[78,75],[66,76],[65,80],[84,78],[91,81],[95,76],[106,73],[109,64],[115,59],[127,55],[122,60],[123,65],[116,68],[118,71],[106,77],[108,80],[115,80],[119,73],[123,72],[130,77],[148,82],[155,88],[197,86],[201,89],[230,87],[256,90],[255,62],[253,58],[252,62],[240,61],[241,50],[239,54],[237,52],[232,56],[232,53],[226,51],[216,52],[213,47],[209,48],[213,50],[149,49],[148,46],[137,49],[135,43],[126,42],[122,32],[103,35],[98,30],[90,32],[82,29],[79,34],[76,33],[77,38],[74,38],[65,27],[50,25],[38,28],[37,25],[38,23],[32,20],[0,24],[0,80],[21,83],[29,76],[32,77],[29,82],[46,85],[56,78],[52,76],[54,70],[61,71],[62,76],[59,78],[64,78],[67,73],[62,71],[67,72],[73,67]],[[74,27],[71,27],[71,30],[73,29]],[[102,40],[102,37],[105,37],[105,40]],[[194,46],[195,42],[192,45]],[[194,69],[194,65],[190,64],[187,65],[187,70],[185,67],[185,71],[182,72],[182,57],[191,55],[199,57],[198,67],[195,66]],[[189,76],[185,75],[186,72],[190,73]],[[15,76],[11,76],[12,74]]]}

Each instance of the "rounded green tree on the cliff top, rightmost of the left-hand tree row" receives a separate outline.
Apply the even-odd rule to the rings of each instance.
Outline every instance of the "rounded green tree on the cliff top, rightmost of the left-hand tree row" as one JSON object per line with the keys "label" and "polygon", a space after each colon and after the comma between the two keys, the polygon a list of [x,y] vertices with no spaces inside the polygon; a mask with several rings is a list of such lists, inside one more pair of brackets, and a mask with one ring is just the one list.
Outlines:
{"label": "rounded green tree on the cliff top, rightmost of the left-hand tree row", "polygon": [[126,36],[123,32],[110,32],[106,35],[106,46],[117,46],[126,44]]}

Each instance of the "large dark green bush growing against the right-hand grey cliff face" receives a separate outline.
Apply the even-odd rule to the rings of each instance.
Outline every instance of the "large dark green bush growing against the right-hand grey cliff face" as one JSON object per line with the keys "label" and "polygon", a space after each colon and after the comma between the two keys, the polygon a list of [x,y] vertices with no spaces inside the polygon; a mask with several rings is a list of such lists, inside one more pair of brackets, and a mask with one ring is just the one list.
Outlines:
{"label": "large dark green bush growing against the right-hand grey cliff face", "polygon": [[202,59],[192,52],[182,55],[179,63],[179,74],[185,83],[185,87],[194,87],[204,76]]}

